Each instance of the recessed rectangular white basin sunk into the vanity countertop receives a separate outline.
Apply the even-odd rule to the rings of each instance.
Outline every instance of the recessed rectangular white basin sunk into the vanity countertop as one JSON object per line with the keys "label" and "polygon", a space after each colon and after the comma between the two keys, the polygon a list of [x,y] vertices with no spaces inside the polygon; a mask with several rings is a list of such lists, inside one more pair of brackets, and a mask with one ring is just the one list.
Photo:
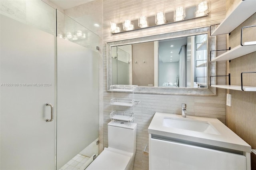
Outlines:
{"label": "recessed rectangular white basin sunk into the vanity countertop", "polygon": [[164,118],[164,127],[170,128],[180,128],[186,130],[193,130],[197,132],[219,134],[219,132],[208,122],[205,121],[195,121],[191,119],[178,119],[178,118]]}

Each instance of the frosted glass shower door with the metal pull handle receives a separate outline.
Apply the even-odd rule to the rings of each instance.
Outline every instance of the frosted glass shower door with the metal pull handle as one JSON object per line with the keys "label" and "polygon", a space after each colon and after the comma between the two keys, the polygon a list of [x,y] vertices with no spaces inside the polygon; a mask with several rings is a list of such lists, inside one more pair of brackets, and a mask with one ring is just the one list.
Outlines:
{"label": "frosted glass shower door with the metal pull handle", "polygon": [[1,0],[0,17],[0,169],[54,170],[55,10]]}

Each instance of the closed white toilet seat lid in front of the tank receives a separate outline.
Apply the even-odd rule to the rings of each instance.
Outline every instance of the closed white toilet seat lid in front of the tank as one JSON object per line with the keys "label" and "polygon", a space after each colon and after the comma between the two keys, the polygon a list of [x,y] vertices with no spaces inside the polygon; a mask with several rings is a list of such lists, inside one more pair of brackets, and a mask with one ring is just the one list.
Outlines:
{"label": "closed white toilet seat lid in front of the tank", "polygon": [[133,153],[104,148],[86,170],[126,170]]}

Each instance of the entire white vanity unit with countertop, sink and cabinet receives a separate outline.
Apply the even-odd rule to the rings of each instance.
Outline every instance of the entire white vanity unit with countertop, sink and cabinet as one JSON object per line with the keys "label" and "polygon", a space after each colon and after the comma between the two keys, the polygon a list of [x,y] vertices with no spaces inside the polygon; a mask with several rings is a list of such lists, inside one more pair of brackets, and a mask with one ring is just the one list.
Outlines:
{"label": "entire white vanity unit with countertop, sink and cabinet", "polygon": [[156,112],[150,170],[251,170],[251,146],[216,118]]}

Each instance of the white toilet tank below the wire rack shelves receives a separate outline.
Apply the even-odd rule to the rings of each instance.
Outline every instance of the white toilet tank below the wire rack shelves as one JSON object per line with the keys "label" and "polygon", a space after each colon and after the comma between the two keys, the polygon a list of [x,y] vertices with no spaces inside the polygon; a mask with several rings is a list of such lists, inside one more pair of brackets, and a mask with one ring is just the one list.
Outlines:
{"label": "white toilet tank below the wire rack shelves", "polygon": [[137,124],[125,121],[108,123],[108,147],[136,152]]}

